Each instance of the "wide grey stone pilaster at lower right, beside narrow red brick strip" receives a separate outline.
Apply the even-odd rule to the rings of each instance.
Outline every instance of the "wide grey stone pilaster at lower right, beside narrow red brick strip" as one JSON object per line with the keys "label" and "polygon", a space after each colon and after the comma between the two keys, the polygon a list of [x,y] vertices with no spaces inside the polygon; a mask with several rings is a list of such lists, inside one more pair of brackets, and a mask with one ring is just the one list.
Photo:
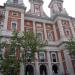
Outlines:
{"label": "wide grey stone pilaster at lower right, beside narrow red brick strip", "polygon": [[64,50],[64,57],[65,57],[66,65],[67,65],[67,72],[69,73],[69,75],[74,75],[72,61],[71,61],[69,52],[67,50]]}

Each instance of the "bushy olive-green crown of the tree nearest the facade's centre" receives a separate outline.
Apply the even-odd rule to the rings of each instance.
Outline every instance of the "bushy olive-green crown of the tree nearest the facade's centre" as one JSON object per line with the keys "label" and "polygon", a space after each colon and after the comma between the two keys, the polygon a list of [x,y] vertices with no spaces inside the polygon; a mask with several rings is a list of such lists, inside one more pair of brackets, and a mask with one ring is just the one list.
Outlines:
{"label": "bushy olive-green crown of the tree nearest the facade's centre", "polygon": [[[37,37],[34,35],[33,32],[23,32],[22,36],[22,47],[25,50],[25,57],[30,57],[30,59],[34,60],[35,52],[44,46],[43,42],[37,40]],[[29,56],[27,55],[27,50],[30,51]]]}

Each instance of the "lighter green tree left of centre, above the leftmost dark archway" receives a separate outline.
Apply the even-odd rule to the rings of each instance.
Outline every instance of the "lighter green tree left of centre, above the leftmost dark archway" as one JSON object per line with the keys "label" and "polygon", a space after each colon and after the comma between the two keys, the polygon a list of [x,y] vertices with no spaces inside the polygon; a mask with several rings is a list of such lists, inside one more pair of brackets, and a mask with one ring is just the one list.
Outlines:
{"label": "lighter green tree left of centre, above the leftmost dark archway", "polygon": [[33,32],[23,32],[22,36],[22,48],[23,50],[23,61],[24,66],[28,62],[34,61],[35,52],[42,48],[45,43],[41,40],[37,40],[37,37]]}

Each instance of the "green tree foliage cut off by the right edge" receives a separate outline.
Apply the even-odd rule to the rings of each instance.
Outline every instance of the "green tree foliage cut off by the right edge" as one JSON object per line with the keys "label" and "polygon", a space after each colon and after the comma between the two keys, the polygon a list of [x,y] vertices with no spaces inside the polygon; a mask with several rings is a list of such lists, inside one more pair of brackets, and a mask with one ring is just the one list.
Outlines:
{"label": "green tree foliage cut off by the right edge", "polygon": [[75,55],[75,39],[70,38],[69,41],[66,42],[65,47],[69,50],[70,55]]}

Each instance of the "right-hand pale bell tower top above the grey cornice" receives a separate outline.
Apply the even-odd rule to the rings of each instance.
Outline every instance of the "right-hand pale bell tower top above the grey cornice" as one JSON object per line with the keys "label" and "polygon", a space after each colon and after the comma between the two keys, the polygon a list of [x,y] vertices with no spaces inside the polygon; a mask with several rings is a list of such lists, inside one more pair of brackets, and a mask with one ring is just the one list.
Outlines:
{"label": "right-hand pale bell tower top above the grey cornice", "polygon": [[63,8],[63,0],[51,0],[49,8],[51,10],[51,16],[57,14],[67,15],[65,8]]}

